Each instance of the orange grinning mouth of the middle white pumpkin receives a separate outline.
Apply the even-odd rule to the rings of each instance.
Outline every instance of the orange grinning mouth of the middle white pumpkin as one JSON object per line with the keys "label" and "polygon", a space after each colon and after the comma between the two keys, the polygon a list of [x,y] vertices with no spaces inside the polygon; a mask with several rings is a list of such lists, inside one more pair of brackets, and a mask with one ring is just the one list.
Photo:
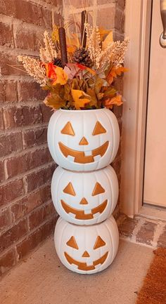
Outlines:
{"label": "orange grinning mouth of the middle white pumpkin", "polygon": [[60,201],[65,212],[75,214],[75,218],[77,218],[77,220],[91,220],[91,218],[94,218],[95,213],[103,213],[103,211],[106,209],[108,200],[106,199],[106,201],[103,201],[101,205],[91,209],[91,211],[89,211],[89,213],[87,214],[84,213],[84,210],[72,208],[71,206],[66,204],[63,199],[61,199]]}

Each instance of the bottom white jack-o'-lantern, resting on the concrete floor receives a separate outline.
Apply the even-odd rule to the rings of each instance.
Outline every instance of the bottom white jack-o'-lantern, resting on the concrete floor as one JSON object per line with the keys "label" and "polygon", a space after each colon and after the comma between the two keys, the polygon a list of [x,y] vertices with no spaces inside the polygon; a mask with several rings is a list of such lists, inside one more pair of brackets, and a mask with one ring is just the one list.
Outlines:
{"label": "bottom white jack-o'-lantern, resting on the concrete floor", "polygon": [[59,218],[54,241],[58,257],[65,267],[90,275],[106,269],[113,262],[119,233],[113,216],[92,226],[77,226]]}

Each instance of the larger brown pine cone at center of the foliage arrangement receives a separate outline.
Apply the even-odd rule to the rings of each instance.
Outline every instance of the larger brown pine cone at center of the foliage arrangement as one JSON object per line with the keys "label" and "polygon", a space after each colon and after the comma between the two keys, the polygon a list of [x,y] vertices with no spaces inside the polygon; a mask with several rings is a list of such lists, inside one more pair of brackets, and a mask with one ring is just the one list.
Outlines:
{"label": "larger brown pine cone at center of the foliage arrangement", "polygon": [[85,48],[77,48],[73,54],[73,61],[80,63],[81,65],[85,65],[86,67],[91,67],[93,65],[89,51],[87,51]]}

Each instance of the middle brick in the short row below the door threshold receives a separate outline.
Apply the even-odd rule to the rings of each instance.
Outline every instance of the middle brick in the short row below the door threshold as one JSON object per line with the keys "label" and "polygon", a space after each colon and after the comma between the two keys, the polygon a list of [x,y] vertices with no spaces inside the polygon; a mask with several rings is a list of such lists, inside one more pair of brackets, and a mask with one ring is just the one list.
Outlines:
{"label": "middle brick in the short row below the door threshold", "polygon": [[157,224],[146,221],[136,234],[136,242],[151,245]]}

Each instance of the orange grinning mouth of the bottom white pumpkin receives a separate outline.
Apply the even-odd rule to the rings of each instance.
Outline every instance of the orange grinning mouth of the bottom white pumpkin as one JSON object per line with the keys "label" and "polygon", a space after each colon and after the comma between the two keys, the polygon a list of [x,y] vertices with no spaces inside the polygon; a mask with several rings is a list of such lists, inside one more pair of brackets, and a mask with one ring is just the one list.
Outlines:
{"label": "orange grinning mouth of the bottom white pumpkin", "polygon": [[70,263],[70,265],[75,264],[78,266],[79,270],[94,270],[96,265],[99,264],[103,264],[106,260],[106,258],[108,257],[108,251],[101,256],[101,258],[98,258],[98,260],[94,260],[93,265],[87,265],[87,263],[84,262],[79,262],[78,260],[75,260],[74,258],[72,258],[71,256],[69,256],[68,253],[64,252],[65,258],[66,260],[68,260],[68,263]]}

